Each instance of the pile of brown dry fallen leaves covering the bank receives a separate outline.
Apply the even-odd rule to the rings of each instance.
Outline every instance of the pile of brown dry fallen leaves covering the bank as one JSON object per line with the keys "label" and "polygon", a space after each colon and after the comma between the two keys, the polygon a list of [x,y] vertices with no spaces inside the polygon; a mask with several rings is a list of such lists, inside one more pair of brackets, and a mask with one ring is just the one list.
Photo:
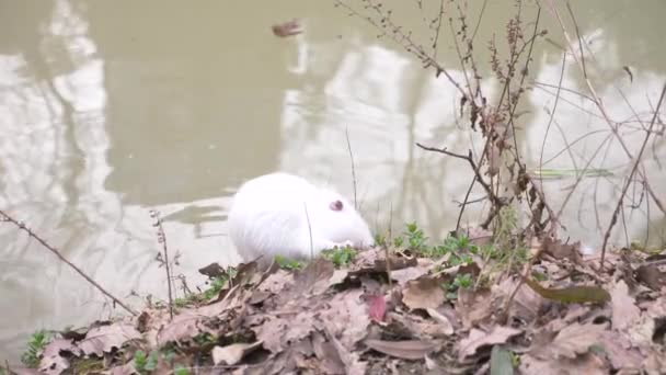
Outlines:
{"label": "pile of brown dry fallen leaves covering the bank", "polygon": [[[250,262],[217,298],[173,319],[149,308],[62,332],[41,372],[82,373],[96,359],[108,374],[666,373],[666,255],[607,254],[600,271],[575,246],[546,241],[537,253],[529,274],[540,277],[507,275],[455,296],[443,285],[478,275],[481,259],[448,266],[394,252],[388,270],[374,249],[344,269]],[[138,350],[158,353],[150,371],[137,368]]]}

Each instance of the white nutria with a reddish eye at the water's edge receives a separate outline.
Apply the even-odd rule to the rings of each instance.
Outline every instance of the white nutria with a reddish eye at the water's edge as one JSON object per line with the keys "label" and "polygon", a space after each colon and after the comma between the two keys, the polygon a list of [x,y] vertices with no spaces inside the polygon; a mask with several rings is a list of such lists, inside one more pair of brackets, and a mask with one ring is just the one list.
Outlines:
{"label": "white nutria with a reddish eye at the water's edge", "polygon": [[283,172],[243,183],[228,217],[229,236],[244,261],[260,255],[305,260],[321,250],[374,245],[363,217],[341,194]]}

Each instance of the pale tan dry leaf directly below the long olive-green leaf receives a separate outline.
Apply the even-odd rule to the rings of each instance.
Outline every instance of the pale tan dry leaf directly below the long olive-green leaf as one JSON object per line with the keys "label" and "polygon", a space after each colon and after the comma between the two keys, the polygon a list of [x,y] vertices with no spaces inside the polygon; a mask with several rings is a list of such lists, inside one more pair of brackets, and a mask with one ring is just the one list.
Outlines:
{"label": "pale tan dry leaf directly below the long olive-green leaf", "polygon": [[[552,337],[552,341],[536,340],[529,353],[542,360],[567,357],[575,359],[578,354],[587,353],[589,346],[599,343],[606,325],[581,325],[575,322],[564,327],[558,334],[543,331],[541,334]],[[539,341],[539,342],[537,342]]]}

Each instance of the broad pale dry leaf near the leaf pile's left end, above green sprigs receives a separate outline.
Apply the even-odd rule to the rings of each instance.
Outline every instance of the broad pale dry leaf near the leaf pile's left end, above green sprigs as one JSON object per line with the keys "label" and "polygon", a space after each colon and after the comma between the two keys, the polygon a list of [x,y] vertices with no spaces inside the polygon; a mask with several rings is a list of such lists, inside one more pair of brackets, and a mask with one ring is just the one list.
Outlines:
{"label": "broad pale dry leaf near the leaf pile's left end, above green sprigs", "polygon": [[91,329],[78,345],[87,355],[102,356],[105,352],[111,352],[113,348],[120,348],[125,342],[140,338],[141,333],[133,325],[117,322]]}

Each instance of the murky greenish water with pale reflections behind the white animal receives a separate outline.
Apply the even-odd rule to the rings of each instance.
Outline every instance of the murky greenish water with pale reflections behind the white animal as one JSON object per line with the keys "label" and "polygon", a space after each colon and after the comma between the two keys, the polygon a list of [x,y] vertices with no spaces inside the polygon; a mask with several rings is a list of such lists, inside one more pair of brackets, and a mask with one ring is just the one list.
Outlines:
{"label": "murky greenish water with pale reflections behind the white animal", "polygon": [[[416,3],[387,7],[414,29],[414,37],[427,38]],[[425,3],[432,16],[434,3]],[[480,7],[470,5],[470,23],[475,24]],[[635,154],[644,137],[635,114],[650,118],[666,80],[666,3],[590,0],[574,8],[586,48],[594,53],[588,73]],[[495,94],[501,88],[487,70],[486,41],[496,34],[502,42],[515,10],[513,1],[489,1],[476,35],[484,84]],[[560,11],[567,15],[565,8]],[[535,14],[528,1],[526,29],[533,27]],[[305,33],[272,34],[273,24],[292,18],[301,20]],[[542,149],[546,161],[571,145],[544,168],[579,169],[610,132],[589,101],[563,91],[541,147],[565,39],[546,11],[540,26],[549,30],[549,42],[537,44],[532,54],[530,71],[538,83],[530,81],[533,89],[520,109],[519,147],[536,167]],[[567,27],[573,31],[571,23]],[[375,230],[389,223],[399,230],[416,220],[438,238],[456,225],[470,171],[460,160],[414,145],[464,151],[473,140],[480,147],[458,118],[455,89],[332,2],[2,0],[0,31],[0,209],[129,303],[140,304],[133,292],[165,293],[149,209],[162,213],[169,247],[181,253],[176,272],[197,285],[198,268],[238,261],[225,218],[243,180],[280,169],[329,181],[352,196],[346,130],[361,211]],[[462,79],[448,29],[437,56]],[[564,67],[563,87],[587,93],[574,61]],[[661,121],[657,128],[642,168],[666,201]],[[590,167],[613,175],[583,180],[564,209],[569,230],[563,235],[595,248],[631,164],[612,141]],[[546,194],[559,207],[575,179],[547,181]],[[659,209],[648,204],[640,184],[630,197],[622,220],[627,230],[617,230],[615,241],[648,238],[663,245],[666,221]],[[464,221],[478,221],[481,208],[482,203],[471,206]],[[8,224],[0,225],[0,245],[2,360],[18,361],[36,328],[82,325],[117,312]]]}

